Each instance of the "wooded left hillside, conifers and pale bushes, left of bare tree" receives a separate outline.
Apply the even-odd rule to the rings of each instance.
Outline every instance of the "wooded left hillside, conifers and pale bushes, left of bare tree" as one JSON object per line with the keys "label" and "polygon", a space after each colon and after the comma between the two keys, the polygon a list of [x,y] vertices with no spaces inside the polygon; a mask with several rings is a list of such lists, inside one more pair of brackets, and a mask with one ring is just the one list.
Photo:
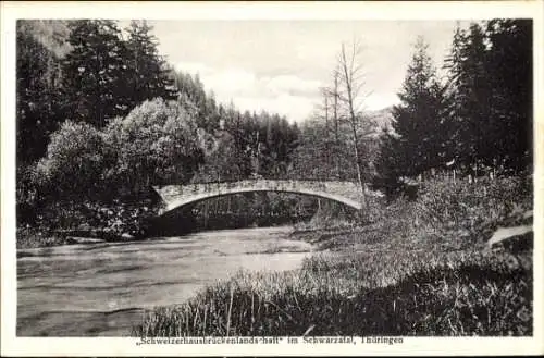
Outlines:
{"label": "wooded left hillside, conifers and pale bushes, left of bare tree", "polygon": [[286,172],[296,124],[217,103],[159,55],[145,21],[57,22],[41,37],[39,25],[17,23],[23,218],[51,202],[140,199],[151,185]]}

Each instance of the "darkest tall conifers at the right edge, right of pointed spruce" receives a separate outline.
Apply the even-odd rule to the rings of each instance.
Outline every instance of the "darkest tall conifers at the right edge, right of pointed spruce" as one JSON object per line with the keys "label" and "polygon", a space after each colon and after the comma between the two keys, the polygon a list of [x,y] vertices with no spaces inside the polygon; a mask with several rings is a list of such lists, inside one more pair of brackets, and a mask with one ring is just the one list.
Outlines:
{"label": "darkest tall conifers at the right edge, right of pointed spruce", "polygon": [[493,20],[457,28],[447,59],[458,158],[472,174],[532,161],[532,23]]}

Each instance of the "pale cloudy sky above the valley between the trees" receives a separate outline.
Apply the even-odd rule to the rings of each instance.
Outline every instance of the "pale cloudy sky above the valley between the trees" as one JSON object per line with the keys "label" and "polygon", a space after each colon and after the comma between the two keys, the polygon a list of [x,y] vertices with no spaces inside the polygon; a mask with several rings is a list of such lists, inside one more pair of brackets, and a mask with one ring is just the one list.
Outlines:
{"label": "pale cloudy sky above the valley between the trees", "polygon": [[198,73],[220,103],[267,110],[301,122],[330,86],[342,42],[359,40],[368,110],[398,102],[418,35],[440,69],[455,21],[148,21],[159,51],[177,70]]}

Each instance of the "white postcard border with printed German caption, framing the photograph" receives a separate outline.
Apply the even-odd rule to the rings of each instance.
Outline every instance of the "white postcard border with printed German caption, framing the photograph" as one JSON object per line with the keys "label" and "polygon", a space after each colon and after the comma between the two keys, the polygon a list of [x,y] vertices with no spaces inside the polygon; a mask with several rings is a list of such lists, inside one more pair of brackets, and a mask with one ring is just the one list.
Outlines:
{"label": "white postcard border with printed German caption, framing the photograph", "polygon": [[[0,2],[1,26],[1,354],[16,356],[147,355],[527,355],[544,353],[542,307],[544,140],[542,1],[466,2]],[[532,338],[405,337],[397,345],[141,345],[135,338],[23,338],[15,336],[15,21],[16,18],[153,20],[467,20],[534,21],[535,246]]]}

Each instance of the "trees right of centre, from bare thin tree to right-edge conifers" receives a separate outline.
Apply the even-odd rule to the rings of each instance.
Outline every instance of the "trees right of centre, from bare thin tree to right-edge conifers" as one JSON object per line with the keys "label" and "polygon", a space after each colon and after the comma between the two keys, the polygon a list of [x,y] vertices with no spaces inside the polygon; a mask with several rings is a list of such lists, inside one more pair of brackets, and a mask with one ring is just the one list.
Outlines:
{"label": "trees right of centre, from bare thin tree to right-edge conifers", "polygon": [[458,25],[440,75],[419,37],[388,121],[366,111],[364,51],[344,45],[322,104],[301,127],[294,169],[360,180],[390,197],[421,175],[531,170],[532,53],[531,20]]}

